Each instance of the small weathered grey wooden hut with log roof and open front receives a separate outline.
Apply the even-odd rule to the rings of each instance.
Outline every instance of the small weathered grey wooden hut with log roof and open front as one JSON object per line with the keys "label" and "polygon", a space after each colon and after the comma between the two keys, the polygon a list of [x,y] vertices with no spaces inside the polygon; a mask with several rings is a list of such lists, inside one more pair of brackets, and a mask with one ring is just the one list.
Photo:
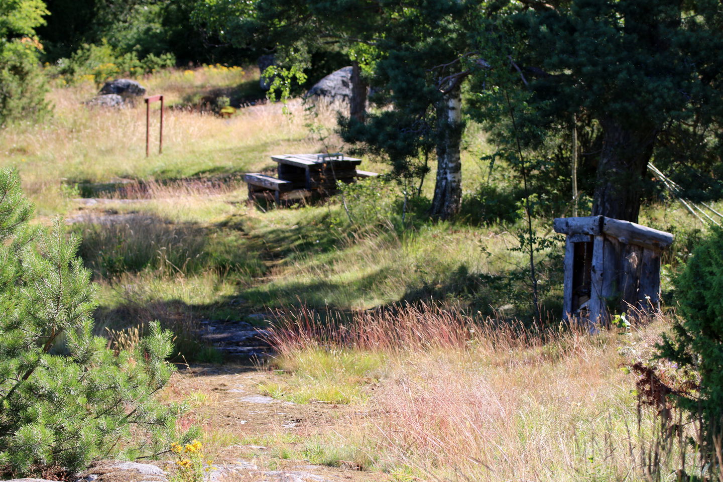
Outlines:
{"label": "small weathered grey wooden hut with log roof and open front", "polygon": [[566,319],[608,322],[610,312],[660,307],[660,253],[673,235],[605,216],[557,218],[565,243]]}

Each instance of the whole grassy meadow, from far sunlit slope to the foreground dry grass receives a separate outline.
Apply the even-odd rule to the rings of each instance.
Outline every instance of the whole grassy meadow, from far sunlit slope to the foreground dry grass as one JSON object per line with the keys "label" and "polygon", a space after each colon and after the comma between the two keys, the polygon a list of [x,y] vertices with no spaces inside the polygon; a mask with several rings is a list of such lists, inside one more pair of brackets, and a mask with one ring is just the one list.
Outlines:
{"label": "whole grassy meadow, from far sunlit slope to the foreground dry grass", "polygon": [[[266,103],[228,119],[193,108],[206,95],[257,95],[257,79],[257,70],[223,66],[141,79],[169,106],[162,155],[153,112],[148,158],[145,106],[84,106],[92,82],[56,85],[50,120],[0,133],[0,162],[19,171],[39,222],[61,216],[82,236],[80,256],[100,285],[99,333],[159,319],[192,358],[205,350],[194,337],[204,319],[275,311],[286,320],[272,334],[278,356],[249,390],[341,411],[228,436],[211,423],[222,409],[204,401],[215,396],[213,377],[181,375],[177,383],[200,387],[168,396],[194,397],[218,457],[306,460],[393,481],[649,480],[653,413],[643,409],[638,423],[625,366],[649,358],[669,319],[600,335],[562,329],[562,241],[552,218],[540,218],[536,232],[551,241],[536,254],[547,324],[510,321],[529,318],[526,254],[508,216],[514,181],[504,166],[489,173],[478,126],[466,134],[466,207],[455,222],[424,218],[433,170],[406,205],[403,186],[377,179],[322,205],[249,205],[243,173],[272,171],[270,155],[348,150],[333,133],[335,106]],[[372,159],[360,167],[388,170]],[[479,201],[484,189],[495,193],[489,202]],[[704,226],[677,205],[650,207],[641,223],[678,226],[664,259],[668,292]]]}

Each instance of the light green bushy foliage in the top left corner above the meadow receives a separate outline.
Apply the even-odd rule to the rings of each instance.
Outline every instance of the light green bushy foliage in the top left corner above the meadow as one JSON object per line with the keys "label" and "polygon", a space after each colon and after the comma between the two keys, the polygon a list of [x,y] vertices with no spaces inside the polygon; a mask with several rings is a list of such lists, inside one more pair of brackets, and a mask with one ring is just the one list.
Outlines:
{"label": "light green bushy foliage in the top left corner above the meadow", "polygon": [[43,46],[35,36],[47,13],[41,0],[0,4],[0,126],[35,121],[48,112],[46,82],[38,66]]}

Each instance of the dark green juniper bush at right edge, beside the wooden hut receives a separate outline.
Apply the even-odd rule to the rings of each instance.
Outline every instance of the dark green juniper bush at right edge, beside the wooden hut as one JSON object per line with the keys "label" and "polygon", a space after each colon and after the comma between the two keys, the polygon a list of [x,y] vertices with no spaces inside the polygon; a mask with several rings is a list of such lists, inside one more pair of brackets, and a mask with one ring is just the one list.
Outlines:
{"label": "dark green juniper bush at right edge, beside the wooden hut", "polygon": [[723,230],[714,228],[677,277],[682,319],[677,319],[672,333],[663,335],[658,347],[659,358],[677,363],[684,373],[699,377],[697,390],[675,395],[675,402],[690,418],[701,422],[699,443],[703,463],[711,462],[719,469],[722,460],[716,459],[716,443],[723,436],[722,267]]}

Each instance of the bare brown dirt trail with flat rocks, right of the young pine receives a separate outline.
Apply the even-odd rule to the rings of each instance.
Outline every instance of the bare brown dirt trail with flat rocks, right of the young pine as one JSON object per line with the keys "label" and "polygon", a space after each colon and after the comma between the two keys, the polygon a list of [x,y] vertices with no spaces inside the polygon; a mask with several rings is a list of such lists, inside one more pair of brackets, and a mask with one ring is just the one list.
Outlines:
{"label": "bare brown dirt trail with flat rocks, right of the young pine", "polygon": [[[215,465],[252,464],[264,470],[302,471],[324,481],[383,481],[385,475],[358,470],[351,462],[340,467],[312,465],[309,460],[285,458],[277,442],[302,446],[304,439],[325,426],[343,423],[354,413],[351,405],[296,404],[259,393],[258,384],[279,374],[244,366],[191,366],[169,382],[169,399],[201,400],[181,423],[202,422]],[[241,474],[231,479],[245,480]],[[241,478],[239,478],[241,477]]]}

